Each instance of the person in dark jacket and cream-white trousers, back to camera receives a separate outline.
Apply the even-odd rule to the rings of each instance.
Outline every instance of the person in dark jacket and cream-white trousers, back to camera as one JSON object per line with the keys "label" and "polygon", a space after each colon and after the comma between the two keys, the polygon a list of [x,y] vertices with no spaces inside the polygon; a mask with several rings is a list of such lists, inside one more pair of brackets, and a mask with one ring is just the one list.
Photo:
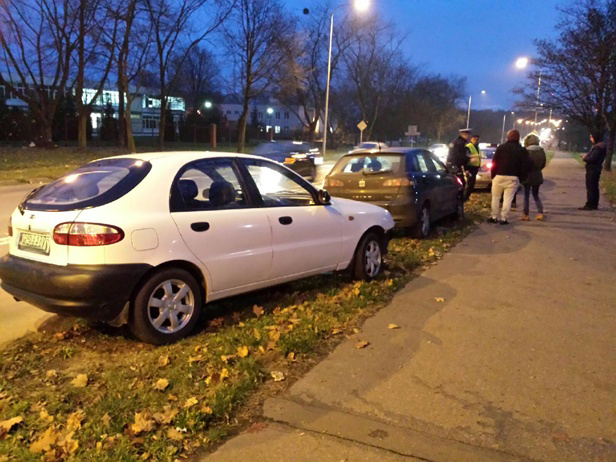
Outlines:
{"label": "person in dark jacket and cream-white trousers, back to camera", "polygon": [[[528,151],[520,144],[520,132],[509,130],[507,142],[499,145],[492,159],[492,216],[489,223],[509,224],[509,212],[513,196],[525,180],[530,170]],[[504,193],[503,209],[500,209],[500,197]]]}

